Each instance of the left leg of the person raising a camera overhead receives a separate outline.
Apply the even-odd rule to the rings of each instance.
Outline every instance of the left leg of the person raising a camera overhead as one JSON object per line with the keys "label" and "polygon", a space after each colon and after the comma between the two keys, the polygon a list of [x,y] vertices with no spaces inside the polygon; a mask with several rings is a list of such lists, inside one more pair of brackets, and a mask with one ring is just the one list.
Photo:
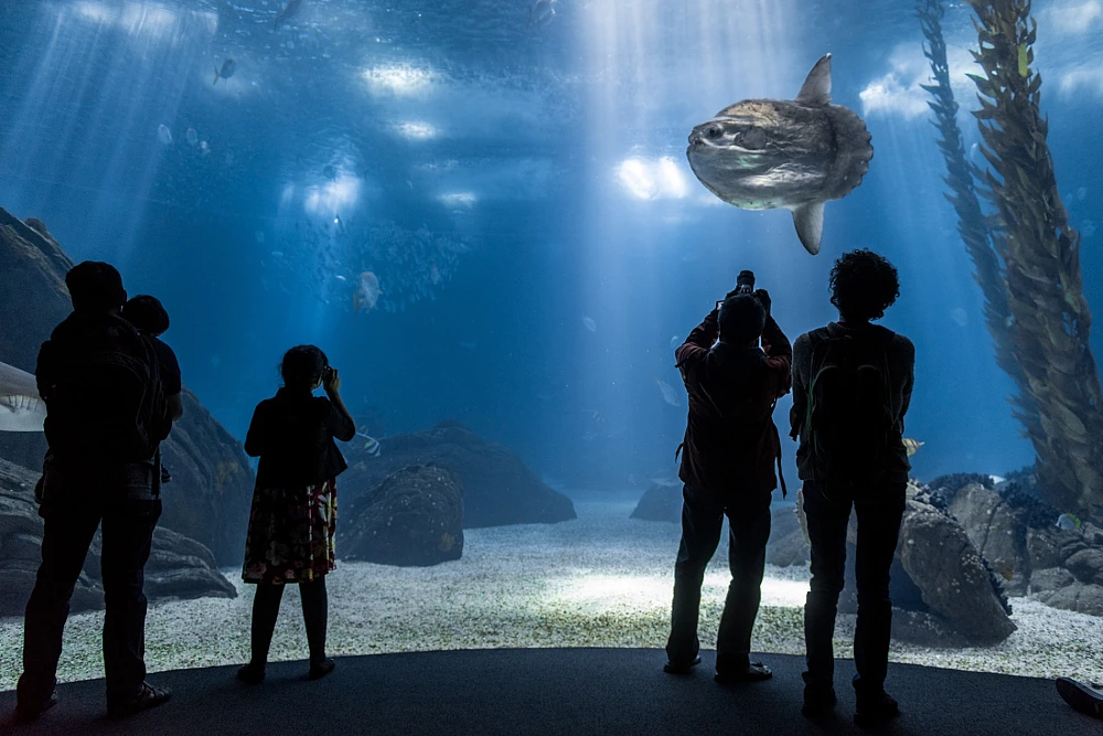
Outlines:
{"label": "left leg of the person raising a camera overhead", "polygon": [[724,527],[724,506],[700,491],[685,487],[682,504],[682,544],[674,564],[674,604],[666,657],[675,669],[688,666],[700,649],[697,619],[705,567],[713,558]]}

